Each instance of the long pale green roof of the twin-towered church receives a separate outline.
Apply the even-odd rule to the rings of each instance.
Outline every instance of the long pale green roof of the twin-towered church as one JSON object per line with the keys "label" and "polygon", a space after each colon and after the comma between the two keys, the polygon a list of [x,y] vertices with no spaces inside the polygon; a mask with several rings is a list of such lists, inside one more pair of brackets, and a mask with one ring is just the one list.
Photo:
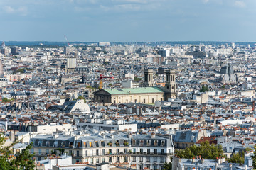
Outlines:
{"label": "long pale green roof of the twin-towered church", "polygon": [[104,89],[110,94],[150,94],[164,93],[158,87],[139,87],[139,88],[124,88],[124,89]]}

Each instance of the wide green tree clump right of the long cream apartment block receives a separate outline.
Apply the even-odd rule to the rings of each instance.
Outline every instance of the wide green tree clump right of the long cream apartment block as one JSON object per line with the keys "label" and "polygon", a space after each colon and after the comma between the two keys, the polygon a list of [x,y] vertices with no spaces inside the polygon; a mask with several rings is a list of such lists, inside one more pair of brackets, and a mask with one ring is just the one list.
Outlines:
{"label": "wide green tree clump right of the long cream apartment block", "polygon": [[200,146],[193,145],[186,149],[176,151],[176,155],[180,158],[192,159],[201,155],[203,159],[216,159],[216,157],[224,157],[221,145],[210,145],[208,141],[201,142]]}

